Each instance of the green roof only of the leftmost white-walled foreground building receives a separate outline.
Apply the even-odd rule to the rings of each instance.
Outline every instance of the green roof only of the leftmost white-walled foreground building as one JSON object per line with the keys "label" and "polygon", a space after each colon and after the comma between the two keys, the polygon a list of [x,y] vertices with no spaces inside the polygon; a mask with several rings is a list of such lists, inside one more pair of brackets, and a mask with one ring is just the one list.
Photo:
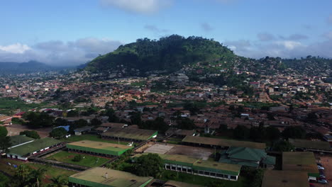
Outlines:
{"label": "green roof only of the leftmost white-walled foreground building", "polygon": [[20,156],[26,156],[33,152],[37,152],[40,149],[44,149],[46,147],[51,147],[52,145],[57,145],[61,141],[55,140],[50,137],[45,137],[40,140],[35,140],[33,142],[27,143],[25,145],[20,145],[18,147],[13,147],[12,149],[9,149],[9,154],[17,154]]}

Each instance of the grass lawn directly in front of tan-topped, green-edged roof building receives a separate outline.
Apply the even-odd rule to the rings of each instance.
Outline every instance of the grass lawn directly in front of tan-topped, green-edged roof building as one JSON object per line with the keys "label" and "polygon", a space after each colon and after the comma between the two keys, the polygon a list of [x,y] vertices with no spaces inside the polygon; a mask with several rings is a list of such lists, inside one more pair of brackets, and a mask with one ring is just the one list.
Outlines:
{"label": "grass lawn directly in front of tan-topped, green-edged roof building", "polygon": [[87,167],[95,167],[95,166],[101,166],[101,164],[106,163],[109,161],[109,159],[101,158],[101,157],[94,157],[88,154],[81,154],[82,157],[84,157],[80,162],[74,162],[72,159],[79,155],[77,153],[73,152],[58,152],[57,154],[53,154],[50,157],[47,157],[46,159],[50,160],[56,160],[59,162],[65,162],[69,164],[76,164],[79,166],[87,166]]}

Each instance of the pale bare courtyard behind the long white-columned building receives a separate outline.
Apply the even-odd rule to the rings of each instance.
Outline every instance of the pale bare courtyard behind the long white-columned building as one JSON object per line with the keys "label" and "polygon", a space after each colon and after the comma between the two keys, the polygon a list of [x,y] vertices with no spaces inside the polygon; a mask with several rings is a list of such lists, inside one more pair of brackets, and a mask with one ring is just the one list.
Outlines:
{"label": "pale bare courtyard behind the long white-columned building", "polygon": [[182,154],[198,159],[207,160],[209,159],[209,156],[211,154],[214,154],[214,149],[156,143],[155,145],[148,147],[148,149],[145,149],[144,152],[152,152],[158,154]]}

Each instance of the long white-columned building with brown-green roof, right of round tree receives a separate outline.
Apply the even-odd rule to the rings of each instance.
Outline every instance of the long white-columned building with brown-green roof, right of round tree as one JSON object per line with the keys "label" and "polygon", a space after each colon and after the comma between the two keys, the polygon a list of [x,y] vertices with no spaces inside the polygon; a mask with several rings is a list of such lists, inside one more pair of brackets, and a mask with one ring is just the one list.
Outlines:
{"label": "long white-columned building with brown-green roof, right of round tree", "polygon": [[[136,154],[140,157],[144,154]],[[158,154],[165,162],[165,169],[187,174],[207,176],[216,179],[237,181],[241,166],[220,162],[211,162],[179,154]]]}

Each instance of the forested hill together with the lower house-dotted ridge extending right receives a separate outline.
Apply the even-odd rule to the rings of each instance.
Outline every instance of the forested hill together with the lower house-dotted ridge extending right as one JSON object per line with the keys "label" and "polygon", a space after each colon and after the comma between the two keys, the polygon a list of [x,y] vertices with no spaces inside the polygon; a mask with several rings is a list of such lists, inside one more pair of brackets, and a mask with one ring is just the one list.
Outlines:
{"label": "forested hill together with the lower house-dotted ridge extending right", "polygon": [[148,38],[121,45],[114,52],[96,57],[85,67],[89,72],[108,72],[116,77],[171,73],[179,69],[204,69],[207,74],[229,70],[258,74],[331,75],[332,60],[321,57],[260,60],[237,56],[214,40],[170,35],[160,40]]}

